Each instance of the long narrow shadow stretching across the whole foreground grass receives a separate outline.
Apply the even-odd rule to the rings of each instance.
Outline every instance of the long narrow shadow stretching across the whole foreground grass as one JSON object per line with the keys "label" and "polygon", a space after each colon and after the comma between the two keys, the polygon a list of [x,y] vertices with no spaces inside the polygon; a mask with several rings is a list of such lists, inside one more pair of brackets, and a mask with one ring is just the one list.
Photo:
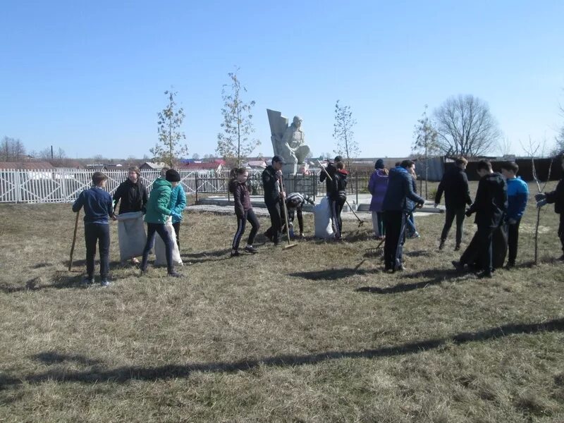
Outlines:
{"label": "long narrow shadow stretching across the whole foreground grass", "polygon": [[0,375],[0,389],[18,386],[24,381],[30,384],[40,384],[44,381],[80,382],[98,384],[111,381],[125,383],[133,380],[157,381],[159,379],[176,379],[189,377],[192,372],[245,372],[255,367],[278,366],[295,367],[305,364],[319,364],[329,360],[343,358],[377,358],[396,357],[399,355],[416,354],[425,350],[436,350],[447,343],[461,345],[474,341],[489,341],[496,338],[515,334],[532,334],[543,332],[564,331],[564,319],[549,320],[544,323],[506,324],[492,329],[476,332],[462,332],[445,338],[433,338],[424,341],[403,343],[396,346],[381,347],[371,350],[335,350],[317,354],[305,355],[277,355],[273,357],[246,358],[236,362],[207,362],[201,364],[169,364],[161,367],[116,367],[115,369],[91,369],[82,371],[61,371],[54,369],[39,374],[28,374],[22,377]]}

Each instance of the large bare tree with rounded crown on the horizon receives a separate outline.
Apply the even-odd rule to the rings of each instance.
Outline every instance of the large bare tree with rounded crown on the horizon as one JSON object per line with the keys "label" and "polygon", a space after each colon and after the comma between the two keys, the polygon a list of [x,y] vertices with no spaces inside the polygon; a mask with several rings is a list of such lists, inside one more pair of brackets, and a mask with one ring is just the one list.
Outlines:
{"label": "large bare tree with rounded crown on the horizon", "polygon": [[481,156],[493,151],[501,137],[488,104],[470,94],[448,98],[434,118],[439,147],[448,156]]}

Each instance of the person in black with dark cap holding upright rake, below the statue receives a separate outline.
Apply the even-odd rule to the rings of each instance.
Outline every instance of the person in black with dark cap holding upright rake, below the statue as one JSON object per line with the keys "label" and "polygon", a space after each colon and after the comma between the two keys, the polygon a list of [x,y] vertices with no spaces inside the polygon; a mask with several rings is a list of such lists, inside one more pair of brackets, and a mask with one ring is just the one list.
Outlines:
{"label": "person in black with dark cap holding upright rake, below the statue", "polygon": [[280,156],[272,158],[272,164],[266,166],[262,172],[262,186],[264,188],[264,204],[270,214],[270,228],[266,230],[264,235],[269,238],[274,245],[280,244],[282,217],[281,217],[281,201],[286,196],[282,185],[282,166],[286,161]]}

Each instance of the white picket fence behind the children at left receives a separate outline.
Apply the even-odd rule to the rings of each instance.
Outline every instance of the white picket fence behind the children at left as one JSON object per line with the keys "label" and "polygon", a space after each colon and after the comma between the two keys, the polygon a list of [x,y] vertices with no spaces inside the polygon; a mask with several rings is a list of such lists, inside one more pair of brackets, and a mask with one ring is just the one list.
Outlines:
{"label": "white picket fence behind the children at left", "polygon": [[[106,190],[114,194],[118,185],[127,177],[127,169],[103,171],[108,176]],[[0,202],[73,202],[82,190],[92,185],[92,173],[88,169],[0,169]],[[228,171],[178,170],[180,183],[186,194],[195,192],[227,192]],[[156,170],[141,171],[140,180],[151,190],[159,178]]]}

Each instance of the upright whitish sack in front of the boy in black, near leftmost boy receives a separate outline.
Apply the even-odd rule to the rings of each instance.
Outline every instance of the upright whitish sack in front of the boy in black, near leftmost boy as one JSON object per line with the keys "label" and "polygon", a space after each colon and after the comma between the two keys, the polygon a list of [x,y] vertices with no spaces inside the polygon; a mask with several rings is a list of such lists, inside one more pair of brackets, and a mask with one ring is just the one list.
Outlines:
{"label": "upright whitish sack in front of the boy in black, near leftmost boy", "polygon": [[142,212],[118,215],[119,257],[122,262],[143,255],[147,234]]}

